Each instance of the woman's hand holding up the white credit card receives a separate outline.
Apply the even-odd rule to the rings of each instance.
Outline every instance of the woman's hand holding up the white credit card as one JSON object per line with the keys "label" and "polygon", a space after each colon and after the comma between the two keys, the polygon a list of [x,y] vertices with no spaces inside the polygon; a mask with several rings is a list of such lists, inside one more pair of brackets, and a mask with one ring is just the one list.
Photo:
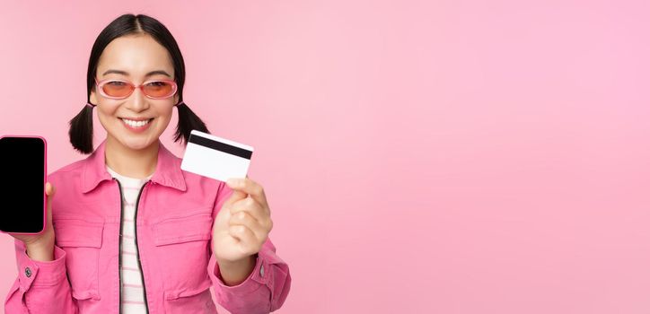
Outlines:
{"label": "woman's hand holding up the white credit card", "polygon": [[[273,228],[264,189],[255,181],[231,179],[233,188],[216,214],[212,230],[212,250],[226,283],[243,281],[255,266],[255,254]],[[230,280],[228,280],[230,279]]]}

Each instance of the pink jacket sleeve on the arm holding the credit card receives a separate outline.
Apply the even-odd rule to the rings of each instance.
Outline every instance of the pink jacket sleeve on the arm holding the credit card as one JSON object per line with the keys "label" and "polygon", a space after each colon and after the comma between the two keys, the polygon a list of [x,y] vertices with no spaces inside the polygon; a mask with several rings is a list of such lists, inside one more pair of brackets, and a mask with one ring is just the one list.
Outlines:
{"label": "pink jacket sleeve on the arm holding the credit card", "polygon": [[[232,188],[221,184],[215,201],[214,216],[232,193]],[[270,313],[282,306],[291,287],[291,275],[289,266],[277,256],[276,247],[270,239],[259,249],[257,262],[249,277],[234,286],[228,286],[222,280],[212,246],[209,247],[207,272],[215,288],[216,300],[225,310],[232,314]]]}

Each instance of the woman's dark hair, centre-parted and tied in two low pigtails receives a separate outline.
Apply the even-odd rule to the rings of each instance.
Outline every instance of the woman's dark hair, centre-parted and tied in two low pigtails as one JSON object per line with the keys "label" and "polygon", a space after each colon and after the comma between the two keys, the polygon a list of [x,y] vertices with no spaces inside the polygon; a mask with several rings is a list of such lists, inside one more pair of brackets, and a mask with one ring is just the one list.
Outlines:
{"label": "woman's dark hair, centre-parted and tied in two low pigtails", "polygon": [[92,153],[92,108],[96,104],[90,104],[91,92],[95,88],[95,75],[97,73],[97,64],[99,63],[101,53],[113,39],[131,34],[148,34],[155,41],[161,44],[169,51],[171,61],[174,66],[174,80],[178,85],[179,104],[179,124],[176,126],[174,142],[187,144],[189,133],[194,129],[201,132],[209,133],[206,124],[189,109],[183,101],[183,85],[185,83],[185,61],[180,54],[180,48],[176,39],[171,36],[171,32],[158,20],[145,14],[124,14],[110,22],[106,28],[101,31],[92,45],[91,57],[88,61],[87,88],[88,99],[87,105],[70,120],[70,143],[81,153]]}

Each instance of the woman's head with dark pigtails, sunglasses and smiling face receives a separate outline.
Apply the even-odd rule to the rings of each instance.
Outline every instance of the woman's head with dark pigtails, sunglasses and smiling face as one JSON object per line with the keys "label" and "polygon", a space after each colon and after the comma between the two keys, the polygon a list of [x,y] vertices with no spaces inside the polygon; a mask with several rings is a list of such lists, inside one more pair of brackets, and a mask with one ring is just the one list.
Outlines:
{"label": "woman's head with dark pigtails, sunglasses and smiling face", "polygon": [[[131,122],[143,119],[154,122],[154,117],[138,117],[135,111],[146,110],[144,106],[152,106],[152,111],[161,114],[159,120],[155,121],[157,126],[147,126],[147,132],[138,138],[127,138],[125,132],[116,132],[112,135],[118,136],[111,136],[109,132],[107,144],[116,140],[124,145],[135,144],[133,148],[145,146],[147,140],[151,144],[169,124],[173,106],[179,109],[175,141],[187,142],[192,129],[207,132],[205,123],[182,100],[185,62],[180,48],[163,24],[151,17],[138,15],[136,18],[135,15],[125,14],[101,31],[92,46],[86,80],[88,106],[70,121],[69,132],[70,142],[81,153],[92,153],[92,108],[95,106],[99,106],[98,116],[107,131],[118,131],[115,125],[119,124],[110,121],[111,114],[115,119],[119,118],[115,114],[129,110],[130,117],[124,118],[130,118]],[[141,85],[136,86],[136,83]],[[154,93],[156,84],[164,84],[164,89],[169,93]],[[129,97],[136,92],[136,87],[142,94]],[[148,99],[143,99],[143,95]],[[119,109],[122,112],[115,112],[120,106],[124,107]],[[127,123],[123,122],[122,126],[136,126]],[[137,127],[126,130],[132,133],[139,131]]]}

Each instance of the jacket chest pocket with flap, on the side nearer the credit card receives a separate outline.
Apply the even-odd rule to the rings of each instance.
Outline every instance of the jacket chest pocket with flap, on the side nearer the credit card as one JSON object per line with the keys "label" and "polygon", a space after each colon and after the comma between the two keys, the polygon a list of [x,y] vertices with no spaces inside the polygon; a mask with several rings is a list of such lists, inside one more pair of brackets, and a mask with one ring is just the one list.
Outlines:
{"label": "jacket chest pocket with flap, on the side nearer the credit card", "polygon": [[151,226],[156,259],[165,271],[165,291],[176,293],[210,282],[207,262],[211,251],[210,212],[163,218]]}

